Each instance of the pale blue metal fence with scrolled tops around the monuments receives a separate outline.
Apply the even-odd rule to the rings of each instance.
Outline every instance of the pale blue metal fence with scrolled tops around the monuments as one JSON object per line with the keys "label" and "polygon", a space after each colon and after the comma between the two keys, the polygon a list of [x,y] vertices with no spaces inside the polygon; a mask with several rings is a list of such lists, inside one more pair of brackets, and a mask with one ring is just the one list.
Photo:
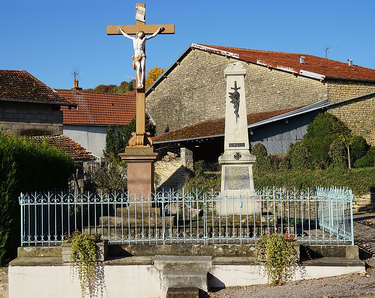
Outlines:
{"label": "pale blue metal fence with scrolled tops around the monuments", "polygon": [[267,233],[302,243],[354,243],[353,194],[342,188],[263,189],[242,197],[168,191],[21,194],[21,245],[53,245],[79,230],[111,243],[255,243]]}

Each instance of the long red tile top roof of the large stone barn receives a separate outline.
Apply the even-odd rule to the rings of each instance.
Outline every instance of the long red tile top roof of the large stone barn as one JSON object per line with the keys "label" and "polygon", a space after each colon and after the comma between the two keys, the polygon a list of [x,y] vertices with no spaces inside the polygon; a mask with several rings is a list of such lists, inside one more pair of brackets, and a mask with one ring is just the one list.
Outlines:
{"label": "long red tile top roof of the large stone barn", "polygon": [[[217,54],[220,54],[220,52],[215,51],[215,49],[236,54],[238,55],[238,59],[247,62],[262,64],[273,68],[279,67],[279,69],[290,69],[297,74],[303,74],[303,71],[307,71],[322,74],[329,78],[375,80],[375,70],[373,69],[356,65],[349,66],[348,63],[307,54],[251,50],[203,44],[193,45],[197,48],[199,48],[199,46],[205,47],[201,49]],[[299,56],[305,57],[304,64],[299,63]]]}

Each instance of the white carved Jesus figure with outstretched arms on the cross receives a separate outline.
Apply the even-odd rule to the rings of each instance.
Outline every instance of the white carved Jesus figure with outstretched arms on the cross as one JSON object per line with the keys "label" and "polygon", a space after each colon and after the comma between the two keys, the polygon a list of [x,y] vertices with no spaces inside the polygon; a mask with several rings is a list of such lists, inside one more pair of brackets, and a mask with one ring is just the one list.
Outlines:
{"label": "white carved Jesus figure with outstretched arms on the cross", "polygon": [[138,79],[138,88],[143,88],[145,82],[145,64],[146,64],[146,54],[145,54],[145,44],[146,40],[151,39],[158,35],[160,32],[163,32],[165,28],[161,26],[156,32],[150,36],[146,36],[145,32],[138,31],[136,37],[129,36],[118,27],[118,31],[121,32],[123,36],[129,38],[133,41],[134,47],[134,56],[133,59],[133,70],[137,71],[137,79]]}

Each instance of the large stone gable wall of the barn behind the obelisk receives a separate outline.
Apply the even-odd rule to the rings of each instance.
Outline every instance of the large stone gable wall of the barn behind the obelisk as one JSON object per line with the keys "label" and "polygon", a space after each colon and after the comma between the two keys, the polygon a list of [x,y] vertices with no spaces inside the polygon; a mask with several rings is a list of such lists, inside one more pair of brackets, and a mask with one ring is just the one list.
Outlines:
{"label": "large stone gable wall of the barn behind the obelisk", "polygon": [[[225,117],[224,69],[236,62],[223,56],[192,50],[146,98],[157,134],[208,119]],[[327,98],[322,82],[242,62],[247,113],[308,105]]]}

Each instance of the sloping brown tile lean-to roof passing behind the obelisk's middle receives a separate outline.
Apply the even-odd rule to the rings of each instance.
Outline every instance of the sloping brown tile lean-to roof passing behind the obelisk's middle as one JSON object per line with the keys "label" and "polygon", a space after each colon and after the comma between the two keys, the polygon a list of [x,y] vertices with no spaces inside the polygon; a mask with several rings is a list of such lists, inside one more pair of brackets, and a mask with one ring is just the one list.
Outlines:
{"label": "sloping brown tile lean-to roof passing behind the obelisk's middle", "polygon": [[[251,125],[260,121],[270,119],[272,117],[279,116],[281,114],[291,112],[301,107],[271,111],[271,112],[261,112],[247,115],[247,125]],[[191,138],[204,138],[217,135],[223,135],[225,131],[225,118],[207,120],[198,122],[168,133],[161,134],[152,138],[154,142],[163,141],[177,141],[186,140]]]}

